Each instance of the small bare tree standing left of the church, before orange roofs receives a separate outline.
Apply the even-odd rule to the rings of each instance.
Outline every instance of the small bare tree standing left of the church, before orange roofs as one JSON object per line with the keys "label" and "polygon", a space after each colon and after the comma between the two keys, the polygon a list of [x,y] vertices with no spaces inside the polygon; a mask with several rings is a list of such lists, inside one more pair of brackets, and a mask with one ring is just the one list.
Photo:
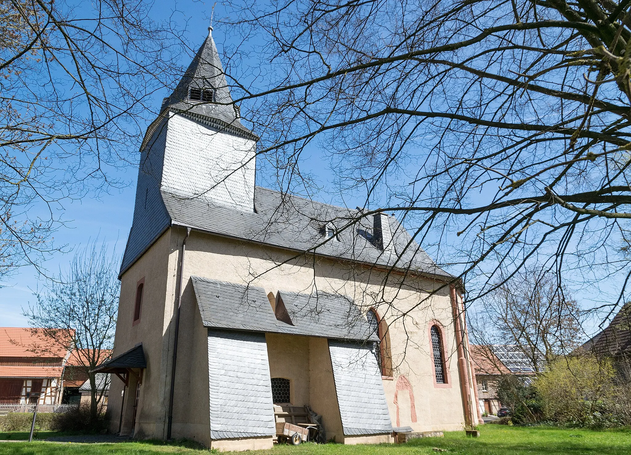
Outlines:
{"label": "small bare tree standing left of the church, before orange roofs", "polygon": [[[54,345],[72,352],[90,381],[90,412],[96,418],[107,384],[98,384],[97,365],[109,359],[120,292],[119,257],[103,241],[78,251],[68,272],[60,272],[25,310],[33,330],[42,331]],[[45,349],[45,347],[40,347]]]}

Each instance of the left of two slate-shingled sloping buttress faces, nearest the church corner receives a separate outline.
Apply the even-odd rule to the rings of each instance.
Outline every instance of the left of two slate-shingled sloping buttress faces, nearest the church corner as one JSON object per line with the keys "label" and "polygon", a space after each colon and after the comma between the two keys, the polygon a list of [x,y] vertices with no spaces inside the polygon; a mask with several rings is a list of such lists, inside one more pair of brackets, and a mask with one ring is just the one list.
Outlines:
{"label": "left of two slate-shingled sloping buttress faces, nearest the church corner", "polygon": [[263,333],[208,330],[211,439],[276,433]]}

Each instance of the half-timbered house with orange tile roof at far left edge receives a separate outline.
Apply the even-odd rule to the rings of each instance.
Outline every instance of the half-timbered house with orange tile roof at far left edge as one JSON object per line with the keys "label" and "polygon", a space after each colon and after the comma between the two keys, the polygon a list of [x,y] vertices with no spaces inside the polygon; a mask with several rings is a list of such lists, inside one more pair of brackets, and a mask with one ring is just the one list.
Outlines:
{"label": "half-timbered house with orange tile roof at far left edge", "polygon": [[0,327],[0,403],[56,405],[68,351],[41,331]]}

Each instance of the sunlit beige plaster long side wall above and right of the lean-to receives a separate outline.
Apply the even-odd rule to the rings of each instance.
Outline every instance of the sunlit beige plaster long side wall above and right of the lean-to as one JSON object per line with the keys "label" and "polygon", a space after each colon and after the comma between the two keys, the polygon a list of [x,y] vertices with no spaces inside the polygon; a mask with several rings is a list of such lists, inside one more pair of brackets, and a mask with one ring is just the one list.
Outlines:
{"label": "sunlit beige plaster long side wall above and right of the lean-to", "polygon": [[[187,246],[184,279],[190,275],[250,283],[267,292],[279,289],[295,292],[341,292],[363,304],[376,308],[389,325],[394,377],[384,379],[384,389],[396,426],[407,422],[416,431],[458,430],[464,425],[463,400],[457,368],[457,350],[452,323],[449,288],[429,296],[442,283],[418,280],[402,284],[394,277],[384,287],[384,274],[375,270],[351,268],[345,263],[316,258],[302,258],[283,263],[290,253],[275,248],[252,247],[240,241],[192,233]],[[192,289],[184,297],[194,305]],[[449,383],[436,386],[428,327],[437,321],[445,338],[445,363]],[[270,352],[273,356],[273,352]],[[397,393],[398,377],[404,375],[415,401],[416,422],[410,415],[410,394]],[[274,376],[274,372],[273,372]],[[282,376],[280,374],[280,376]],[[398,402],[394,402],[397,395]],[[400,398],[399,398],[400,397]],[[300,398],[302,400],[302,398]],[[406,401],[407,400],[407,401]],[[401,423],[403,425],[403,423]]]}

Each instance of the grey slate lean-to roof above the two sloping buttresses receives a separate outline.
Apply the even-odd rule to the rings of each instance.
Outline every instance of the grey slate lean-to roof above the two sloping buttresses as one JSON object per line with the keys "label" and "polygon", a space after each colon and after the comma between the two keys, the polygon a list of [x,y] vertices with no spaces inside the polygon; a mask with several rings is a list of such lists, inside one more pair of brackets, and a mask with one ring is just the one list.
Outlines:
{"label": "grey slate lean-to roof above the two sloping buttresses", "polygon": [[279,291],[293,325],[279,321],[265,289],[191,277],[204,326],[341,340],[378,341],[353,302],[337,294]]}

